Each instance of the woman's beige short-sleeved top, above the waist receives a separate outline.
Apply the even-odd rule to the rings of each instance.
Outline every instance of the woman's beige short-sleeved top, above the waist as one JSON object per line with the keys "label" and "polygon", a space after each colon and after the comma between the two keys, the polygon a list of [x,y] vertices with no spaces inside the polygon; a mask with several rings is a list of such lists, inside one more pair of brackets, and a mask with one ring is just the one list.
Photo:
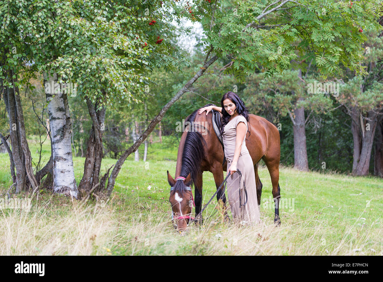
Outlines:
{"label": "woman's beige short-sleeved top, above the waist", "polygon": [[[248,129],[247,126],[247,120],[243,115],[237,115],[233,119],[229,120],[228,124],[225,125],[223,128],[223,145],[224,145],[224,150],[225,150],[225,157],[229,158],[232,160],[234,157],[234,151],[236,149],[236,138],[237,138],[237,125],[239,122],[244,122],[246,124],[246,130]],[[240,155],[249,153],[249,150],[247,150],[246,147],[246,134],[242,142],[242,147],[241,147],[241,153]]]}

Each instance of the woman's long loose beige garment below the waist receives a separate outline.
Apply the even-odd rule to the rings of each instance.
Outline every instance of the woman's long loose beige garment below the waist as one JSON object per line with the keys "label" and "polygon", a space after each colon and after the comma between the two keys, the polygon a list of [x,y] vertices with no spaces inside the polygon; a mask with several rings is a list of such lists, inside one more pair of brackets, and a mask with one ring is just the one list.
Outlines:
{"label": "woman's long loose beige garment below the waist", "polygon": [[[228,170],[231,165],[232,159],[226,158],[228,162]],[[228,200],[230,204],[231,214],[236,223],[243,225],[250,225],[260,222],[260,213],[257,201],[257,189],[255,186],[255,173],[252,159],[249,153],[241,154],[238,158],[237,168],[242,173],[241,183],[239,183],[239,173],[235,172],[229,175],[227,181]],[[226,177],[226,175],[225,175]],[[247,191],[244,192],[244,184]],[[241,208],[239,208],[239,187],[241,186]]]}

